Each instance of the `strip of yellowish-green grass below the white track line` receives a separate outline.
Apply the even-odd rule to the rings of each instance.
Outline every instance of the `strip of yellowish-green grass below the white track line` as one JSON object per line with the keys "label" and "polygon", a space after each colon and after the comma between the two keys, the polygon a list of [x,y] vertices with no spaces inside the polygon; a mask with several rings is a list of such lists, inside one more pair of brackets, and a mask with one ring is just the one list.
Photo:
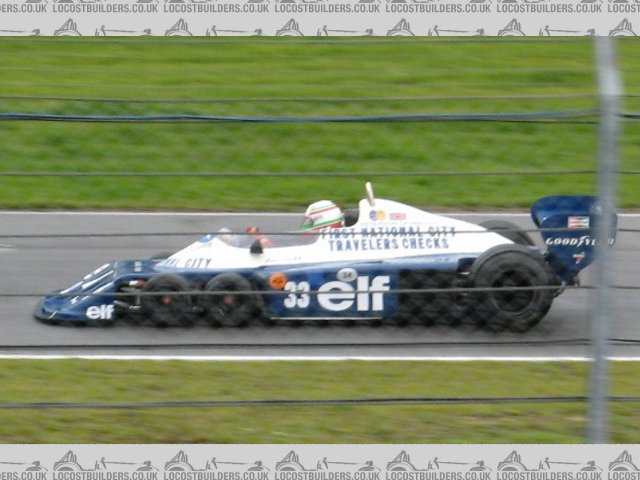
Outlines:
{"label": "strip of yellowish-green grass below the white track line", "polygon": [[[586,395],[582,363],[0,362],[0,403]],[[636,363],[612,395],[640,395]],[[461,373],[464,372],[464,373]],[[469,379],[473,379],[470,381]],[[3,443],[582,443],[588,405],[0,409]],[[637,404],[611,441],[638,443]]]}

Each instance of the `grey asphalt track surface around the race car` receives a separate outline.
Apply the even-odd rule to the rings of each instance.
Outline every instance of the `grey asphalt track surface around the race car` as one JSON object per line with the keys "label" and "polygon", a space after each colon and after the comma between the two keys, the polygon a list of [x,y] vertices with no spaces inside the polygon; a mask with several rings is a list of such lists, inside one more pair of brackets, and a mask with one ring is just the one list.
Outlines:
{"label": "grey asphalt track surface around the race car", "polygon": [[[533,228],[526,214],[451,216],[474,223],[501,218]],[[68,327],[44,325],[32,316],[39,295],[71,285],[106,262],[174,251],[223,226],[244,230],[258,225],[275,232],[294,229],[298,221],[297,216],[278,214],[0,212],[0,355],[580,359],[590,354],[594,291],[589,289],[563,293],[545,319],[525,334],[490,333],[472,325]],[[618,226],[640,229],[640,215],[622,214]],[[534,238],[539,241],[538,235]],[[616,285],[640,286],[639,239],[640,232],[618,234],[612,265]],[[583,272],[582,284],[593,285],[593,277],[591,266]],[[612,292],[609,354],[640,357],[640,290]]]}

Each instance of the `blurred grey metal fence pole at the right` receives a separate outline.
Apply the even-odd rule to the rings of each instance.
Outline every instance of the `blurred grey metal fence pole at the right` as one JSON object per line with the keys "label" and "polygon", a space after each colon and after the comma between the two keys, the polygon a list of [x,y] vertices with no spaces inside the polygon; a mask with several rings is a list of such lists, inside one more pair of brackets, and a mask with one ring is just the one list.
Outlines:
{"label": "blurred grey metal fence pole at the right", "polygon": [[591,322],[592,367],[590,381],[589,442],[606,443],[607,414],[607,342],[611,317],[612,265],[609,239],[614,238],[614,209],[616,199],[616,170],[618,167],[617,137],[621,93],[616,65],[614,40],[597,37],[595,40],[596,68],[600,103],[598,134],[598,196],[602,215],[596,225],[596,292]]}

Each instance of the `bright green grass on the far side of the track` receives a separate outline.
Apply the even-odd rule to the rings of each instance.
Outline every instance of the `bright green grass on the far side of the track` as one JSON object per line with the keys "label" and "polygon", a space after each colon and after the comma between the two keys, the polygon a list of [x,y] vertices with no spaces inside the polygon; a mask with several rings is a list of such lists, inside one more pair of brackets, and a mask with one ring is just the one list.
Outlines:
{"label": "bright green grass on the far side of the track", "polygon": [[[637,93],[640,56],[635,42],[619,47],[627,93]],[[592,45],[582,39],[467,44],[424,39],[363,43],[1,39],[0,48],[1,112],[352,116],[596,107]],[[489,98],[459,98],[465,96]],[[94,100],[69,100],[78,97]],[[123,101],[100,100],[105,98]],[[287,100],[292,98],[298,100]],[[318,98],[323,101],[309,100]],[[366,100],[371,98],[394,100]],[[158,99],[174,102],[153,102]],[[628,99],[625,107],[640,111],[640,102]],[[638,170],[637,132],[635,124],[625,129],[623,169]],[[585,174],[378,178],[367,173],[593,170],[596,150],[597,127],[579,123],[5,121],[0,122],[4,159],[0,172],[243,176],[0,177],[0,208],[299,210],[321,197],[353,204],[369,179],[379,196],[420,206],[526,207],[544,195],[593,193],[595,178]],[[356,177],[251,177],[255,172]],[[622,179],[620,203],[625,207],[640,205],[634,182],[633,175]]]}

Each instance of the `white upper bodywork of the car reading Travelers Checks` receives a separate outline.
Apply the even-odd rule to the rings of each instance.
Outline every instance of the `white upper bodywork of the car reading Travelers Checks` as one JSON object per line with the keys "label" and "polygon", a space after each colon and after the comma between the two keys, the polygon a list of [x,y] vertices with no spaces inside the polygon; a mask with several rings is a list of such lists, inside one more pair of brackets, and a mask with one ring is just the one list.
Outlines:
{"label": "white upper bodywork of the car reading Travelers Checks", "polygon": [[[161,261],[163,271],[183,269],[238,270],[313,263],[429,261],[439,256],[457,258],[480,253],[510,240],[485,228],[450,217],[427,213],[402,203],[366,199],[357,222],[317,234],[291,233],[268,238],[262,253],[251,253],[254,238],[232,234],[206,236]],[[269,234],[265,234],[269,237]]]}

